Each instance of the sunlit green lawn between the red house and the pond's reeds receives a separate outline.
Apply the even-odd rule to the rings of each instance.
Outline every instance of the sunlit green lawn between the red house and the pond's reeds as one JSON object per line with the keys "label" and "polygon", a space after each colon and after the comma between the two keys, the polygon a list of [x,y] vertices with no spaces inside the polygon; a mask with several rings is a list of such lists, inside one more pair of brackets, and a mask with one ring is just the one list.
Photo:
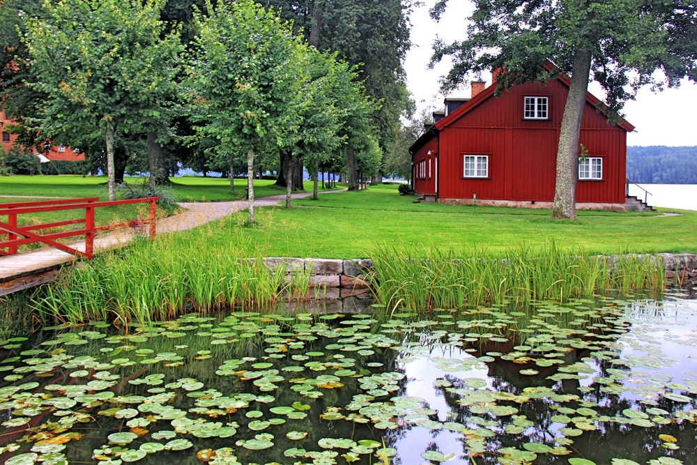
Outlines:
{"label": "sunlit green lawn between the red house and the pond's reeds", "polygon": [[[551,211],[521,208],[413,204],[396,185],[326,194],[293,208],[261,208],[256,227],[246,213],[181,234],[199,240],[252,241],[269,256],[366,257],[381,245],[423,245],[457,250],[503,250],[521,243],[554,241],[586,252],[697,252],[697,212],[580,211],[579,220],[551,218]],[[675,211],[680,216],[660,213]]]}

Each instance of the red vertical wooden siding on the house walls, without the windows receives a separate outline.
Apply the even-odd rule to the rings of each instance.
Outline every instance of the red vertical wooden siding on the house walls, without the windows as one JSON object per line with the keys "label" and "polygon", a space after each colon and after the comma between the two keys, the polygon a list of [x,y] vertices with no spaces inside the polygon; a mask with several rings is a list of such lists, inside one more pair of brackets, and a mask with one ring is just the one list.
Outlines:
{"label": "red vertical wooden siding on the house walls, without the windows", "polygon": [[[471,199],[476,194],[477,199],[552,201],[559,128],[568,91],[559,81],[522,84],[499,98],[474,99],[469,107],[464,105],[468,109],[459,118],[454,112],[452,121],[446,119],[439,125],[438,197]],[[523,119],[526,96],[548,97],[549,118]],[[579,142],[589,156],[603,158],[603,179],[579,181],[577,201],[625,202],[626,137],[624,128],[608,125],[606,117],[586,102]],[[428,150],[433,150],[429,144],[420,148],[414,162]],[[488,178],[463,178],[464,155],[489,155]],[[423,181],[417,180],[415,185],[417,192],[434,192]]]}

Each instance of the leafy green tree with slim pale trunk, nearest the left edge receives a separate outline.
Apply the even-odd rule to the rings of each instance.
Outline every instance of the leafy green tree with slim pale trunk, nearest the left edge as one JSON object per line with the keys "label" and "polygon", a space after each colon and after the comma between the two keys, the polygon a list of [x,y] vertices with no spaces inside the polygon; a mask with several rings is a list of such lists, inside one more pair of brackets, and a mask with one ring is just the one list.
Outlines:
{"label": "leafy green tree with slim pale trunk, nearest the left edge", "polygon": [[107,153],[109,199],[116,199],[114,138],[146,132],[160,118],[181,41],[164,33],[164,1],[45,1],[28,23],[34,89],[45,94],[39,128],[75,139],[98,134]]}

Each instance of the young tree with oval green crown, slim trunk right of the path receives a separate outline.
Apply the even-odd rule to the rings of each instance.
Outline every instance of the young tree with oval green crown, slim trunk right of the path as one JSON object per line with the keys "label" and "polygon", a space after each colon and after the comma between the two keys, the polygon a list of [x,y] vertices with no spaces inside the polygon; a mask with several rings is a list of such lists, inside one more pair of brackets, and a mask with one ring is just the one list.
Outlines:
{"label": "young tree with oval green crown, slim trunk right of the path", "polygon": [[197,37],[190,61],[195,126],[229,152],[247,154],[250,222],[254,222],[254,155],[286,146],[298,130],[299,64],[307,53],[292,26],[252,0],[206,3],[194,13]]}

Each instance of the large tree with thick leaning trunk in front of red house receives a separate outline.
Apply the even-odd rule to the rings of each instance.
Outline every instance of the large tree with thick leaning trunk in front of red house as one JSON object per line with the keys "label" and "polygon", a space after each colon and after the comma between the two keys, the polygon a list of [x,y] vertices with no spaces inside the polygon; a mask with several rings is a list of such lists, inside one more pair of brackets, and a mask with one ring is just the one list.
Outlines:
{"label": "large tree with thick leaning trunk in front of red house", "polygon": [[[447,0],[431,10],[438,19]],[[470,74],[500,69],[497,93],[515,84],[571,75],[557,153],[553,215],[576,218],[579,135],[589,79],[606,91],[598,111],[620,121],[624,103],[645,84],[655,89],[697,82],[697,2],[694,0],[477,1],[466,39],[436,42],[433,62],[452,56],[445,91]],[[554,66],[549,71],[546,63]],[[660,73],[657,73],[659,71]]]}

